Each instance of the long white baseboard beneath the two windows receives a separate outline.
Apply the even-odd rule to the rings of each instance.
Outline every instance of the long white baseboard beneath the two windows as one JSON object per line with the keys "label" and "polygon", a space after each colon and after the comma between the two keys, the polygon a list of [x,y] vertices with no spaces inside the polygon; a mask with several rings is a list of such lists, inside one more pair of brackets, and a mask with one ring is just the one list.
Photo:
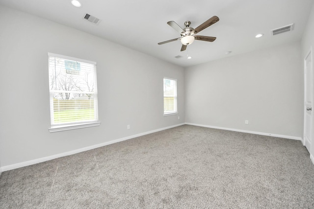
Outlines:
{"label": "long white baseboard beneath the two windows", "polygon": [[135,134],[135,135],[132,135],[132,136],[121,138],[121,139],[115,139],[115,140],[111,140],[111,141],[106,141],[104,143],[95,144],[95,145],[88,146],[88,147],[83,147],[83,148],[72,150],[72,151],[69,151],[69,152],[64,152],[64,153],[60,153],[60,154],[56,154],[56,155],[52,155],[52,156],[48,156],[48,157],[44,157],[44,158],[39,158],[39,159],[31,160],[31,161],[26,161],[26,162],[22,162],[22,163],[16,163],[16,164],[12,164],[12,165],[2,166],[2,167],[0,167],[0,172],[7,171],[7,170],[13,170],[13,169],[16,169],[16,168],[20,168],[20,167],[24,167],[24,166],[32,165],[32,164],[36,164],[36,163],[42,163],[42,162],[45,162],[45,161],[50,161],[50,160],[53,160],[53,159],[56,159],[56,158],[65,157],[65,156],[68,156],[68,155],[77,154],[77,153],[80,153],[80,152],[84,152],[84,151],[88,151],[88,150],[91,150],[91,149],[99,148],[99,147],[106,146],[106,145],[113,144],[113,143],[117,143],[117,142],[120,142],[120,141],[125,141],[125,140],[128,140],[128,139],[133,139],[133,138],[136,138],[136,137],[141,137],[141,136],[144,136],[144,135],[152,134],[152,133],[155,133],[155,132],[158,132],[158,131],[163,131],[163,130],[166,130],[166,129],[174,128],[174,127],[181,126],[181,125],[184,125],[184,124],[185,123],[180,123],[180,124],[173,125],[173,126],[168,126],[168,127],[164,127],[164,128],[160,128],[160,129],[156,129],[156,130],[140,133],[140,134]]}

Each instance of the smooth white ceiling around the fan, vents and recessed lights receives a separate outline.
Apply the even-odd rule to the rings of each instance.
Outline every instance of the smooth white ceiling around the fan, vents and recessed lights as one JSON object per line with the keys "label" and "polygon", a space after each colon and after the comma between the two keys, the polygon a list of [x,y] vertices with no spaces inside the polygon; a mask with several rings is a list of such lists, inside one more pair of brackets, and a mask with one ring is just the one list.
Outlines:
{"label": "smooth white ceiling around the fan, vents and recessed lights", "polygon": [[[0,0],[0,4],[77,28],[133,48],[167,62],[187,67],[264,47],[299,41],[314,0]],[[88,13],[101,19],[95,25],[83,19]],[[194,41],[181,52],[181,42],[167,22],[196,28],[212,16],[220,21],[197,35],[214,36],[214,42]],[[271,36],[271,29],[294,23],[294,30]],[[265,34],[255,38],[258,33]],[[227,51],[232,53],[226,55]],[[187,54],[192,59],[186,59]],[[177,59],[175,56],[183,58]]]}

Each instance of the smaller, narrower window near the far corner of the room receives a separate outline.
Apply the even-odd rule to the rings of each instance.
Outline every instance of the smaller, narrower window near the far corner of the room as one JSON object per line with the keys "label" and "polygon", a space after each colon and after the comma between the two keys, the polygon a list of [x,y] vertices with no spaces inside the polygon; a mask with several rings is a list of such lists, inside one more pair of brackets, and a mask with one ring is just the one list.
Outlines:
{"label": "smaller, narrower window near the far corner of the room", "polygon": [[177,114],[177,80],[163,79],[163,115]]}

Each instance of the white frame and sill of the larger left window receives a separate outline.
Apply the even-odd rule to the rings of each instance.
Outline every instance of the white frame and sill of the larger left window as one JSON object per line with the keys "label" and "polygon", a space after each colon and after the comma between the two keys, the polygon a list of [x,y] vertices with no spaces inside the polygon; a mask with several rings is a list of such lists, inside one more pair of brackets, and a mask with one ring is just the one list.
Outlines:
{"label": "white frame and sill of the larger left window", "polygon": [[[97,92],[97,63],[94,61],[89,61],[89,60],[84,60],[84,59],[79,59],[76,57],[70,57],[70,56],[65,56],[61,54],[55,54],[55,53],[50,53],[48,52],[48,71],[49,71],[49,84],[50,84],[50,57],[56,57],[60,58],[63,60],[70,60],[70,61],[76,61],[80,63],[86,63],[86,64],[91,64],[94,65],[94,111],[95,111],[95,119],[94,120],[83,120],[83,121],[75,121],[75,122],[69,122],[69,123],[59,123],[59,124],[53,124],[53,97],[52,93],[53,91],[51,88],[49,88],[49,100],[50,100],[50,116],[51,116],[51,122],[50,125],[51,127],[49,128],[49,132],[59,132],[59,131],[66,131],[66,130],[72,130],[72,129],[79,129],[79,128],[86,128],[86,127],[93,127],[93,126],[99,126],[100,121],[99,121],[99,114],[98,114],[98,92]],[[60,90],[61,91],[61,90]]]}

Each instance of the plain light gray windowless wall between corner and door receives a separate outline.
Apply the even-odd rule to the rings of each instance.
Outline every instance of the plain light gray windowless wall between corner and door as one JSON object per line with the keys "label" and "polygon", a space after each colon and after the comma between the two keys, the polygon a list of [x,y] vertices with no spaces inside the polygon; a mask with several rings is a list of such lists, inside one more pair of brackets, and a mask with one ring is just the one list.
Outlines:
{"label": "plain light gray windowless wall between corner and door", "polygon": [[186,122],[302,137],[300,52],[297,42],[187,68]]}

